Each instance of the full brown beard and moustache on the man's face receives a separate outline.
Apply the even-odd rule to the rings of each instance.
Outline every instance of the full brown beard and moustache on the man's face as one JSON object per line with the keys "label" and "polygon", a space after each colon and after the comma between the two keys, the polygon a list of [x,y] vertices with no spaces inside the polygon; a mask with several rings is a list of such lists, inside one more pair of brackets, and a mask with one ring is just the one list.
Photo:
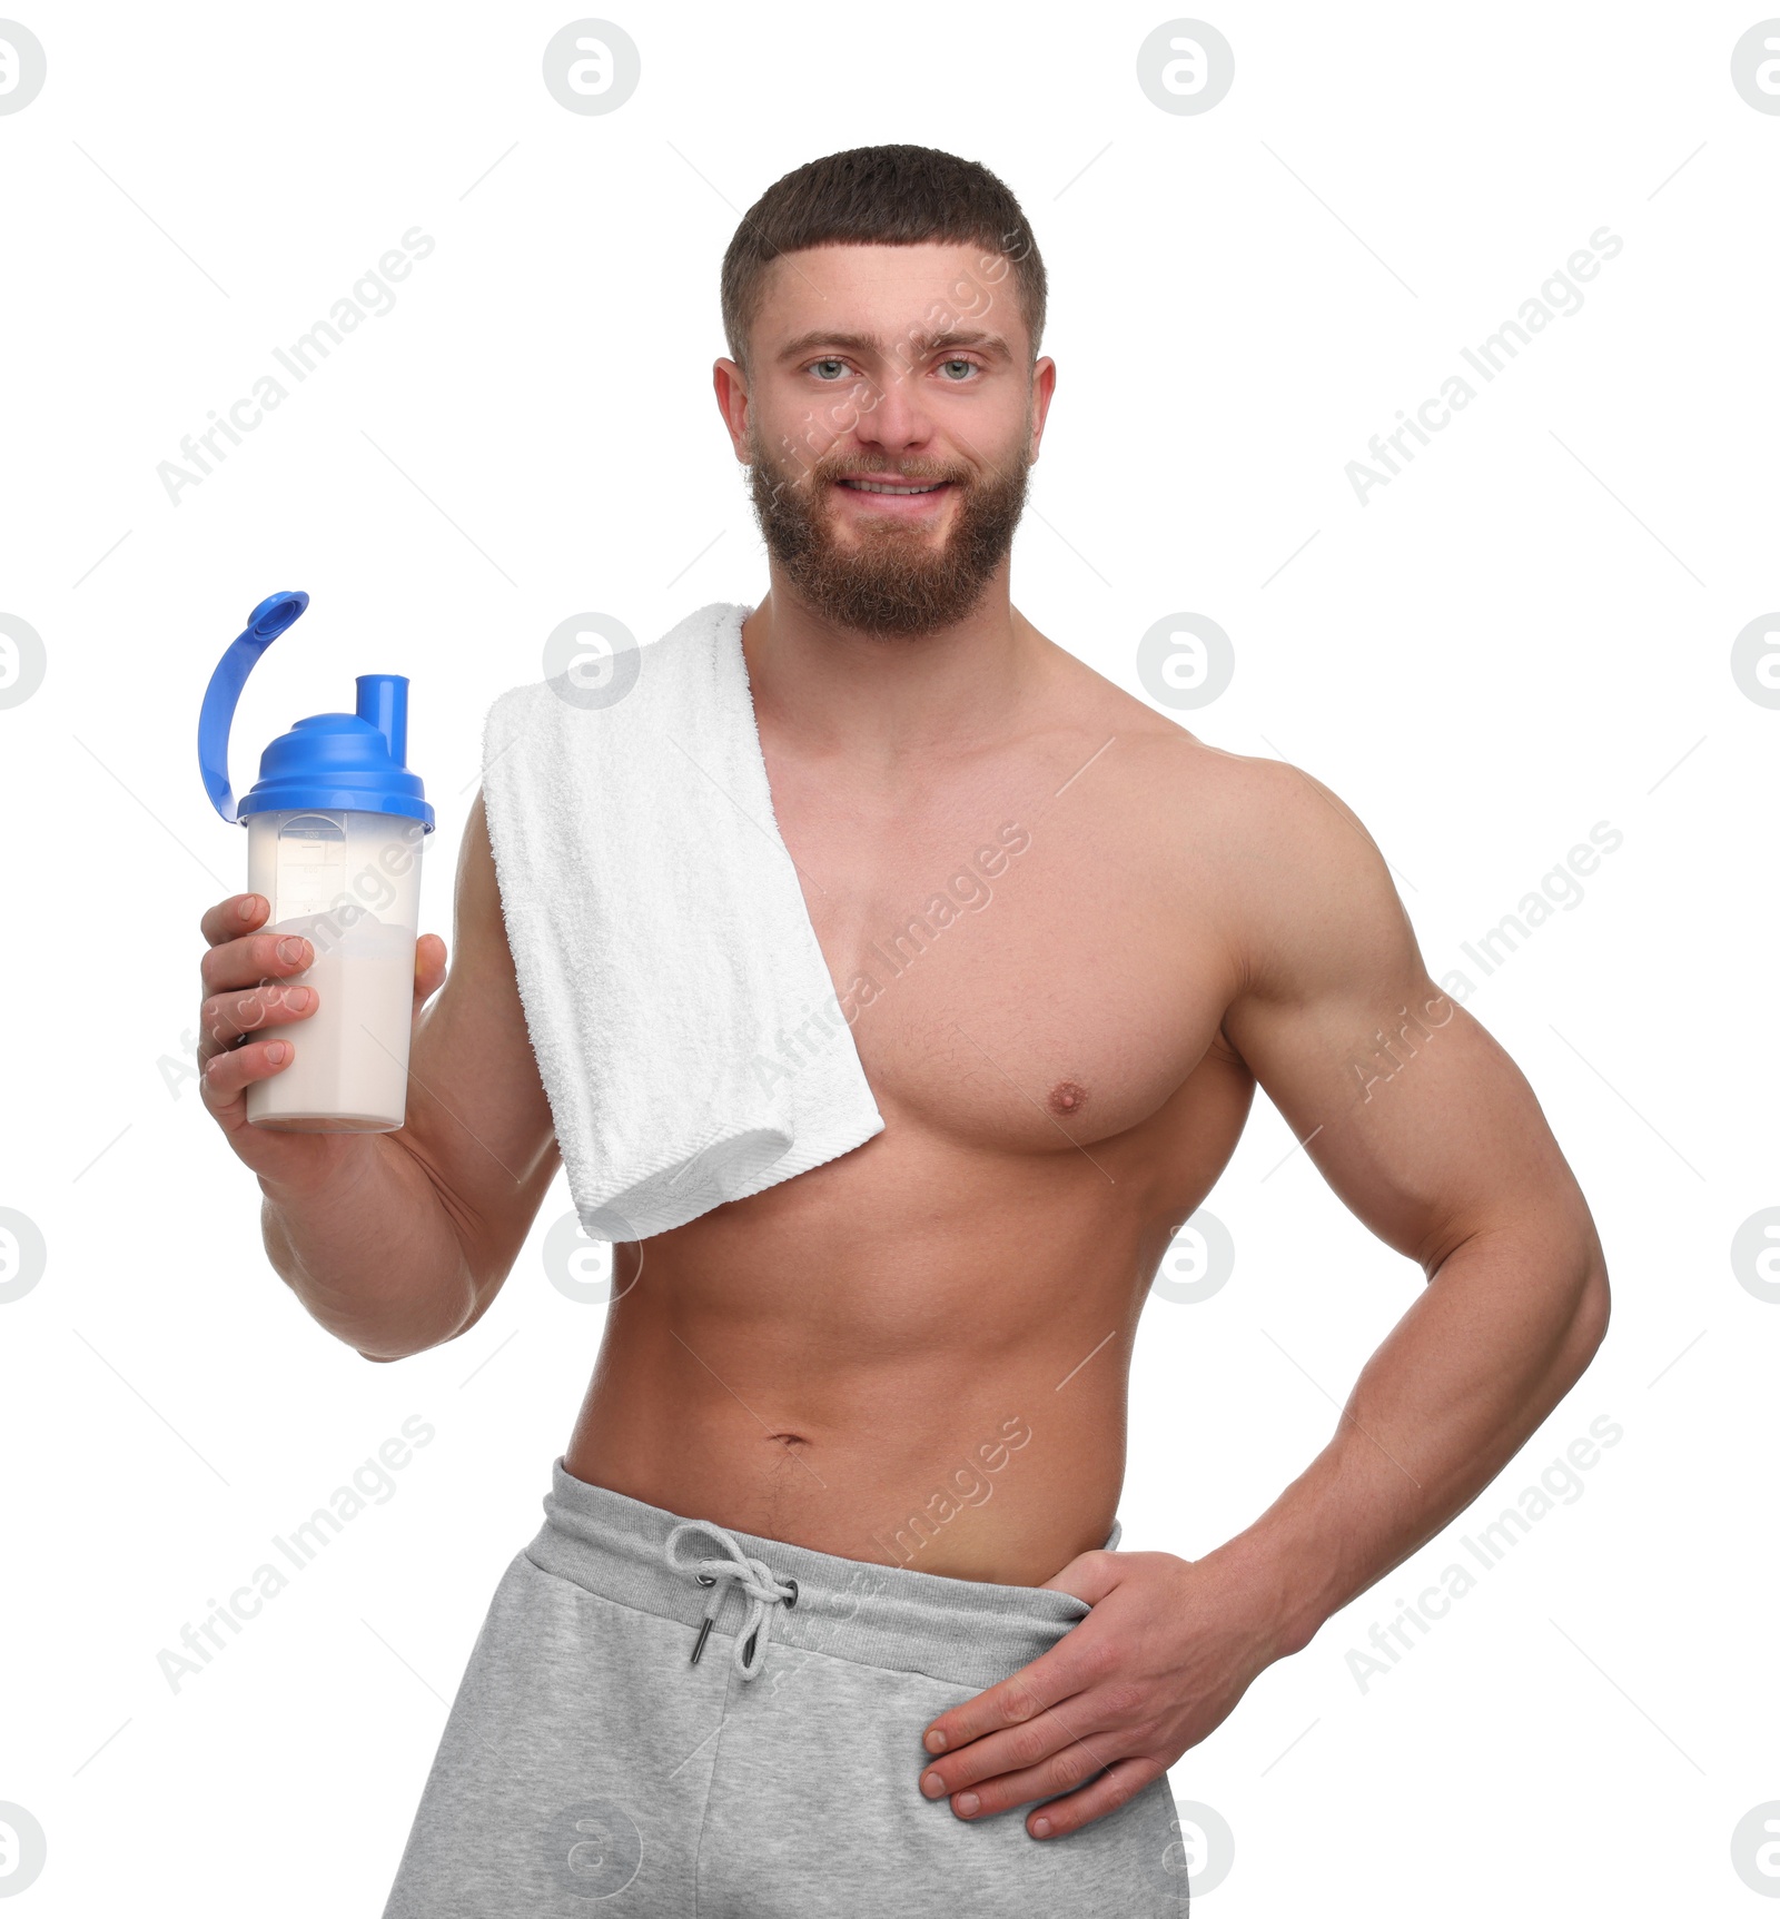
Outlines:
{"label": "full brown beard and moustache on the man's face", "polygon": [[[1024,451],[1011,466],[972,474],[938,461],[892,462],[836,443],[802,478],[773,461],[748,422],[748,491],[767,553],[823,618],[884,637],[913,637],[953,626],[982,599],[990,576],[1013,547],[1026,505]],[[902,480],[949,480],[959,493],[951,532],[932,549],[926,528],[882,522],[838,541],[829,516],[829,487],[842,474]]]}

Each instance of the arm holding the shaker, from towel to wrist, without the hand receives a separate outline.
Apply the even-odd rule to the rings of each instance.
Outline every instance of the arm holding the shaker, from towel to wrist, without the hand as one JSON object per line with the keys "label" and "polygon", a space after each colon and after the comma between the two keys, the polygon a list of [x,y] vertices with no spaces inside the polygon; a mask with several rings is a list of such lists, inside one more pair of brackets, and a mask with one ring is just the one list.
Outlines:
{"label": "arm holding the shaker, from towel to wrist, without the hand", "polygon": [[[414,1027],[401,1130],[315,1190],[261,1178],[267,1255],[366,1359],[405,1359],[481,1318],[558,1165],[481,794],[458,852],[453,938],[445,986]],[[416,973],[426,965],[416,956]]]}

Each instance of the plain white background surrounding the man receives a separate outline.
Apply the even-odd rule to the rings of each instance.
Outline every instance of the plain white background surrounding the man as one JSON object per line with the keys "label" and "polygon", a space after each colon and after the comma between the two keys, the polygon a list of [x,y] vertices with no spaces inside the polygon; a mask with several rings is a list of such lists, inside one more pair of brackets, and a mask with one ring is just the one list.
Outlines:
{"label": "plain white background surrounding the man", "polygon": [[[175,1065],[198,917],[246,885],[196,768],[211,666],[261,597],[313,593],[242,700],[238,785],[355,674],[412,675],[449,933],[481,716],[545,635],[763,591],[710,397],[717,263],[771,180],[877,140],[992,165],[1051,272],[1019,604],[1132,691],[1155,620],[1226,628],[1235,679],[1185,723],[1356,808],[1613,1278],[1598,1361],[1477,1508],[1174,1767],[1235,1833],[1203,1909],[1765,1909],[1730,1835],[1780,1798],[1780,1305],[1728,1257],[1780,1201],[1780,712],[1730,672],[1780,604],[1780,117],[1730,83],[1763,15],[1218,0],[1235,84],[1172,115],[1136,83],[1159,8],[614,0],[643,81],[575,115],[539,65],[564,8],[17,8],[48,50],[0,117],[0,612],[48,654],[0,710],[0,1205],[48,1244],[0,1307],[0,1800],[50,1848],[21,1915],[376,1915],[600,1336],[541,1267],[562,1186],[483,1322],[403,1364],[267,1267]],[[180,438],[416,225],[393,311],[171,505]],[[1368,438],[1604,225],[1586,305],[1362,507]],[[1581,906],[1465,965],[1602,819],[1625,842]],[[1208,1201],[1235,1276],[1145,1316],[1128,1547],[1245,1526],[1416,1295],[1291,1148],[1256,1102]],[[173,1693],[157,1652],[409,1414],[437,1437],[395,1497]],[[1362,1693],[1348,1648],[1604,1414],[1582,1497]]]}

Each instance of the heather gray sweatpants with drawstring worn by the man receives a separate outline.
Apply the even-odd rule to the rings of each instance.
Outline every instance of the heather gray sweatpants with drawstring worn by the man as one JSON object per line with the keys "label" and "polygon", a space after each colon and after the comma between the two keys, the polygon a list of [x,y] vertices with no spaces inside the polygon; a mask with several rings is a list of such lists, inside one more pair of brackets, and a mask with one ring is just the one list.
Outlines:
{"label": "heather gray sweatpants with drawstring worn by the man", "polygon": [[917,1785],[926,1723],[1088,1612],[685,1522],[558,1458],[384,1919],[1180,1919],[1166,1777],[1047,1840]]}

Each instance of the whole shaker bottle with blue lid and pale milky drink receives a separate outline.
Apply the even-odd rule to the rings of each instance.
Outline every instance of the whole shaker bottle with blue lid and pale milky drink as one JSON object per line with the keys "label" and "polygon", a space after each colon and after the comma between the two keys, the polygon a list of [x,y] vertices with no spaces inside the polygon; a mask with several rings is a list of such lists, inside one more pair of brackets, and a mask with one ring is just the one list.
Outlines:
{"label": "whole shaker bottle with blue lid and pale milky drink", "polygon": [[211,674],[198,716],[198,764],[211,804],[247,827],[247,890],[270,902],[265,933],[299,933],[315,988],[305,1019],[269,1023],[292,1059],[247,1086],[247,1119],[282,1132],[393,1132],[407,1113],[420,925],[420,848],[433,829],[418,773],[407,770],[409,681],[359,674],[355,714],[297,720],[261,754],[236,804],[228,729],[247,674],[309,604],[274,593]]}

